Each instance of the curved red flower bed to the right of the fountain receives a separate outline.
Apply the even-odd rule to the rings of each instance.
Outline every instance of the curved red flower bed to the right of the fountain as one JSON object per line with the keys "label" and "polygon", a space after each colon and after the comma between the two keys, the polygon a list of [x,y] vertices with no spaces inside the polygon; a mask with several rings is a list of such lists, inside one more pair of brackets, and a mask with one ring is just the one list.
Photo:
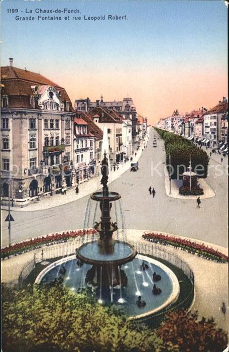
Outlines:
{"label": "curved red flower bed to the right of the fountain", "polygon": [[207,247],[204,243],[200,244],[192,242],[185,238],[177,238],[175,236],[163,235],[162,233],[155,232],[144,232],[144,235],[142,235],[142,237],[154,243],[172,245],[175,248],[180,248],[182,250],[185,250],[192,254],[196,254],[208,260],[214,260],[218,262],[228,261],[228,257],[225,254],[213,248]]}

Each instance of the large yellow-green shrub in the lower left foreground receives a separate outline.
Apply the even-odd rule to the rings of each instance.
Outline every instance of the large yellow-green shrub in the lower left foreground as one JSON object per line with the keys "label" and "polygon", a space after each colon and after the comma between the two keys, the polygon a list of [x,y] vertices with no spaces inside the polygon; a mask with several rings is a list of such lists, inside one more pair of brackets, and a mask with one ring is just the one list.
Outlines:
{"label": "large yellow-green shrub in the lower left foreground", "polygon": [[149,328],[58,283],[24,290],[4,287],[2,323],[6,352],[162,350],[161,339]]}

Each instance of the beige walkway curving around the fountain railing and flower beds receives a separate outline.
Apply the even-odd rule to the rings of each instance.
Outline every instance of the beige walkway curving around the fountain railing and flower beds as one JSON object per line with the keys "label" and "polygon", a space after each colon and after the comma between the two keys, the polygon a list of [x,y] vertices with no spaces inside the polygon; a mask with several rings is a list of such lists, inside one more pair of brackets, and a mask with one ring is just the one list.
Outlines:
{"label": "beige walkway curving around the fountain railing and flower beds", "polygon": [[[142,235],[149,230],[127,230],[128,238],[135,241],[146,242]],[[163,232],[162,232],[163,233]],[[180,237],[180,236],[177,236]],[[181,237],[184,238],[184,237]],[[190,239],[190,238],[188,238]],[[195,242],[204,243],[214,249],[219,249],[227,254],[227,248],[217,246],[215,244],[204,241]],[[147,241],[147,244],[154,245]],[[45,247],[44,247],[45,248]],[[164,248],[164,246],[163,246]],[[166,246],[166,251],[177,254],[181,259],[185,260],[195,278],[195,301],[192,305],[192,311],[198,310],[199,317],[204,316],[206,319],[213,316],[218,327],[227,331],[228,316],[223,316],[221,312],[221,304],[225,302],[228,307],[228,265],[227,263],[216,263],[206,260],[188,252],[176,249],[172,246]],[[10,259],[2,261],[2,281],[4,283],[17,283],[19,274],[27,262],[32,260],[35,251],[30,251],[21,255],[14,256]],[[228,309],[228,308],[227,308]]]}

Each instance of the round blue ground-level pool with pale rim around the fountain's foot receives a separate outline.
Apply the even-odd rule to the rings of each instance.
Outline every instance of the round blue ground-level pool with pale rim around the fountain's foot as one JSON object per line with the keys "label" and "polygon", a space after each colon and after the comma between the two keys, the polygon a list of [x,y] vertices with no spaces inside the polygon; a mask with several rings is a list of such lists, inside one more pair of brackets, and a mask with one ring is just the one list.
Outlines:
{"label": "round blue ground-level pool with pale rim around the fountain's foot", "polygon": [[[141,264],[144,261],[148,269],[143,271]],[[66,273],[61,274],[63,266]],[[74,255],[60,259],[45,268],[37,277],[35,283],[49,283],[56,278],[63,277],[63,285],[73,292],[86,288],[85,277],[92,265],[84,263],[82,267],[77,266],[77,259]],[[122,266],[128,277],[126,286],[112,287],[104,289],[95,288],[95,298],[101,304],[113,302],[122,306],[124,312],[130,317],[151,315],[165,306],[176,301],[180,288],[175,274],[161,262],[144,255],[138,255],[132,261]],[[161,276],[161,280],[154,283],[153,273]],[[159,295],[152,293],[152,287],[156,284],[162,292]],[[138,296],[146,302],[145,307],[139,308],[136,304]]]}

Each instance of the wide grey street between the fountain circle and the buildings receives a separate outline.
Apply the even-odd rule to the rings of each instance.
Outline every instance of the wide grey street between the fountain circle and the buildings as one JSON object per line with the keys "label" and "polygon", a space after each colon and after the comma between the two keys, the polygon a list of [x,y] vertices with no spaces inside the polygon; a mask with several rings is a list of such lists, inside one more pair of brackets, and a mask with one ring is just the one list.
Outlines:
{"label": "wide grey street between the fountain circle and the buildings", "polygon": [[[110,191],[117,191],[122,196],[126,228],[163,231],[227,246],[226,173],[215,175],[213,167],[218,163],[210,160],[212,170],[206,181],[215,192],[215,197],[202,200],[200,209],[196,209],[195,200],[167,197],[163,172],[164,143],[158,140],[157,148],[153,148],[153,133],[151,131],[148,146],[139,160],[139,171],[128,170],[109,185]],[[157,170],[161,176],[157,172],[152,175],[152,163],[154,166],[159,163]],[[154,199],[148,192],[150,186],[156,190]],[[83,228],[87,224],[92,226],[93,220],[99,221],[99,209],[94,216],[96,202],[91,201],[91,210],[84,222],[88,198],[41,211],[13,211],[15,222],[12,223],[12,242],[50,232]],[[112,220],[118,215],[118,226],[122,227],[119,214],[119,205],[115,207],[113,204]],[[6,216],[7,211],[2,211],[3,220]],[[7,244],[7,223],[3,222],[2,245]]]}

